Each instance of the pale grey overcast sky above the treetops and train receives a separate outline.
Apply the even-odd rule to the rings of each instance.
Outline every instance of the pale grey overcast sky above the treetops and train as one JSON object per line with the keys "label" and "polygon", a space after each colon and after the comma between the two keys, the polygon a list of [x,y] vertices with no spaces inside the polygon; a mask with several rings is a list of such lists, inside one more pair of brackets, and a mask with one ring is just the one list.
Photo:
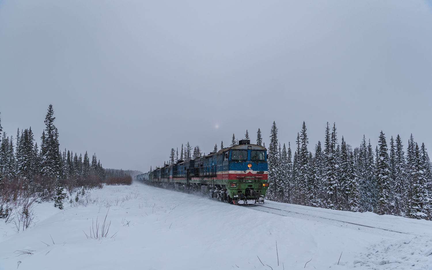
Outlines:
{"label": "pale grey overcast sky above the treetops and train", "polygon": [[[410,133],[432,151],[432,4],[357,1],[0,1],[3,129],[41,136],[105,168],[163,165],[273,121],[309,149],[336,122],[358,146]],[[295,146],[294,146],[295,147]],[[179,149],[180,151],[180,149]]]}

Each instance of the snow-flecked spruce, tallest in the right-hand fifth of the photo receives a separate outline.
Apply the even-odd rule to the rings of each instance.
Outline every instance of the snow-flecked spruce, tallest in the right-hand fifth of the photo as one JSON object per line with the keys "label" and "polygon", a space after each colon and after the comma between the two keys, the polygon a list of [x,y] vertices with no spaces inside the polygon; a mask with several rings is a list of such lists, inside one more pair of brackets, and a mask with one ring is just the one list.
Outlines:
{"label": "snow-flecked spruce, tallest in the right-hand fifth of the photo", "polygon": [[391,198],[393,183],[390,179],[390,165],[388,157],[387,143],[384,133],[381,131],[378,140],[378,156],[376,164],[376,179],[378,186],[378,205],[377,213],[379,215],[390,214],[392,212]]}

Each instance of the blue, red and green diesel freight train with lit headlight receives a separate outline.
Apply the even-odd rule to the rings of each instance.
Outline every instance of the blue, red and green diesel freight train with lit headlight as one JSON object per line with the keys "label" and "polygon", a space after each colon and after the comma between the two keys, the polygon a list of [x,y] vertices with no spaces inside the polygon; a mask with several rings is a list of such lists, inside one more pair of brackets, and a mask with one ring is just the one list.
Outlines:
{"label": "blue, red and green diesel freight train with lit headlight", "polygon": [[264,203],[267,183],[267,149],[240,140],[231,146],[187,161],[178,160],[152,172],[137,175],[146,184],[198,191],[233,204]]}

